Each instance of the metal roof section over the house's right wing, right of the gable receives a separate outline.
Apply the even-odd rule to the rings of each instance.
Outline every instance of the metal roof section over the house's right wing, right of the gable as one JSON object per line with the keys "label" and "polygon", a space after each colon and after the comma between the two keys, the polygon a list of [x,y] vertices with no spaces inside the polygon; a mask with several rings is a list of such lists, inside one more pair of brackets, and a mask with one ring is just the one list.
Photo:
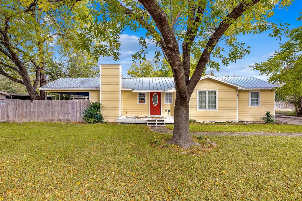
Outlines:
{"label": "metal roof section over the house's right wing, right of the gable", "polygon": [[234,85],[241,86],[245,89],[271,89],[278,87],[267,83],[266,81],[260,80],[258,78],[219,78],[223,81],[229,82]]}

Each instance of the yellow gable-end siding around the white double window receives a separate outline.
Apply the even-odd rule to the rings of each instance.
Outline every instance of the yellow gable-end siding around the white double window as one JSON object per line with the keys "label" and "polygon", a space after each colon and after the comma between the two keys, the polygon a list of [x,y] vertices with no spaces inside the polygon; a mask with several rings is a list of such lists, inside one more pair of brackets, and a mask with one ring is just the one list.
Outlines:
{"label": "yellow gable-end siding around the white double window", "polygon": [[[196,90],[217,90],[218,110],[197,111]],[[190,118],[197,121],[237,121],[237,88],[208,78],[199,81],[190,98]]]}

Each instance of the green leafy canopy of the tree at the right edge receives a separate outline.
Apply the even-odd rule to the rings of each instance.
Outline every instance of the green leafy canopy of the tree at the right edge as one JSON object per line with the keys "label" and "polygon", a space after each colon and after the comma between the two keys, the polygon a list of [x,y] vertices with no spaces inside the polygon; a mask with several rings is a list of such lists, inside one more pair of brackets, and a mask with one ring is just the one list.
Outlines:
{"label": "green leafy canopy of the tree at the right edge", "polygon": [[[301,19],[301,18],[300,18]],[[279,50],[265,62],[256,63],[253,69],[268,76],[268,81],[280,83],[277,93],[288,97],[302,114],[302,26],[292,29],[288,41],[279,46]]]}

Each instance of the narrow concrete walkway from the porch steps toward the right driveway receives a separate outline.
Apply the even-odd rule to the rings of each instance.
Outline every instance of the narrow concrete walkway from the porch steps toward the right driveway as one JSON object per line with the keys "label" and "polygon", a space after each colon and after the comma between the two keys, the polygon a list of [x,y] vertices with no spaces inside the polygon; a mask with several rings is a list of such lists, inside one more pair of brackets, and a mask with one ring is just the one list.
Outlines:
{"label": "narrow concrete walkway from the porch steps toward the right driveway", "polygon": [[[172,130],[165,126],[150,126],[150,129],[159,133],[171,133]],[[281,133],[281,132],[190,132],[191,135],[220,135],[220,136],[297,136],[302,133]]]}

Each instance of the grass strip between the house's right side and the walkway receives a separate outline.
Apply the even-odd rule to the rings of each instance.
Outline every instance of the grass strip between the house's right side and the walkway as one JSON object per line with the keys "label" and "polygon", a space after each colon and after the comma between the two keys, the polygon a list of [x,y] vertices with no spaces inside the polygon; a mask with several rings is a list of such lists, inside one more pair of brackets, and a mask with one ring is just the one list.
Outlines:
{"label": "grass strip between the house's right side and the walkway", "polygon": [[[167,124],[173,130],[173,124]],[[241,124],[241,123],[190,123],[190,132],[302,132],[301,125],[292,124]]]}

